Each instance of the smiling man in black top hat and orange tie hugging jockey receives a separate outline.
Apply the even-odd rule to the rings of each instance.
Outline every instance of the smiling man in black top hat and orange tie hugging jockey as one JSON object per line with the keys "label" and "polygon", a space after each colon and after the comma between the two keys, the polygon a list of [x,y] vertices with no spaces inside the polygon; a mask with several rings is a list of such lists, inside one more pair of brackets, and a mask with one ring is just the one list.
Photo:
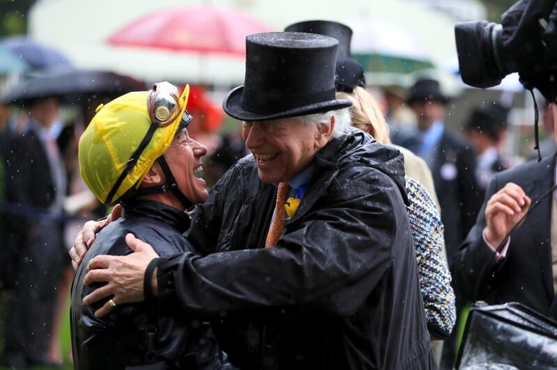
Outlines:
{"label": "smiling man in black top hat and orange tie hugging jockey", "polygon": [[[242,120],[252,154],[196,209],[187,238],[202,256],[159,259],[146,276],[154,252],[133,240],[141,252],[91,261],[86,282],[111,289],[85,303],[143,300],[146,281],[170,304],[213,316],[242,369],[436,367],[402,155],[350,129],[350,102],[335,99],[337,45],[309,33],[247,37],[245,83],[223,109]],[[78,239],[92,238],[91,225]],[[79,258],[86,248],[76,248]]]}

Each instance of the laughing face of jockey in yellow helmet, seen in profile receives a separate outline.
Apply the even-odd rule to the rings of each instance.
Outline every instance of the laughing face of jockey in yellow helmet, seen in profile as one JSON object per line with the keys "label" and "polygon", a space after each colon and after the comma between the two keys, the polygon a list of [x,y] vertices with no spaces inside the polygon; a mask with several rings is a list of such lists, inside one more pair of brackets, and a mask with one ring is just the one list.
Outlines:
{"label": "laughing face of jockey in yellow helmet, seen in profile", "polygon": [[[196,204],[204,203],[209,197],[205,188],[205,180],[201,178],[203,175],[201,157],[205,154],[207,154],[207,148],[189,137],[187,129],[178,131],[170,147],[164,152],[164,159],[178,182],[178,188],[191,202]],[[175,198],[173,195],[172,197]]]}

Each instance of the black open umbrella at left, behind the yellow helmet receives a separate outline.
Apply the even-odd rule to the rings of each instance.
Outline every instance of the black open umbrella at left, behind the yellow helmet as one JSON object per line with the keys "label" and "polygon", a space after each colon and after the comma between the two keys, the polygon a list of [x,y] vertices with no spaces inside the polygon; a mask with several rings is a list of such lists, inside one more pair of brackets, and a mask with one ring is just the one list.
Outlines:
{"label": "black open umbrella at left, behind the yellow helmet", "polygon": [[40,97],[113,95],[145,90],[145,83],[113,72],[97,70],[57,70],[36,74],[19,81],[0,99],[3,104],[23,103]]}

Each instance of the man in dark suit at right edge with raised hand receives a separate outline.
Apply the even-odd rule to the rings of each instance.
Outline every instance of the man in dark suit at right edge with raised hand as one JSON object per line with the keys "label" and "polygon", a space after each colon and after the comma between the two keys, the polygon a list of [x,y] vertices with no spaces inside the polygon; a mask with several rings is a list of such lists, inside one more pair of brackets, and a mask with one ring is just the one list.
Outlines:
{"label": "man in dark suit at right edge with raised hand", "polygon": [[[557,118],[555,104],[551,109]],[[494,175],[476,225],[450,262],[460,296],[519,302],[557,319],[556,193],[542,198],[555,184],[556,154]],[[531,203],[538,205],[505,241]]]}

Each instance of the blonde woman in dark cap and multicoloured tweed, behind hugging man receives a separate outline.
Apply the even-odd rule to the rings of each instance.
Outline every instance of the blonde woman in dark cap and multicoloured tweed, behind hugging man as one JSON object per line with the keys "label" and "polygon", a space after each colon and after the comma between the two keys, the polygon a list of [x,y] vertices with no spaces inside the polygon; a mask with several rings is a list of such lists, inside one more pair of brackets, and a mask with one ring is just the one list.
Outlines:
{"label": "blonde woman in dark cap and multicoloured tweed, behind hugging man", "polygon": [[[352,60],[337,63],[335,83],[337,99],[352,102],[352,126],[366,131],[379,143],[392,145],[389,127],[375,98],[363,87],[363,68]],[[395,146],[395,145],[393,145]],[[398,147],[405,156],[408,218],[416,248],[416,261],[427,328],[432,339],[446,339],[456,320],[455,294],[450,287],[446,264],[443,224],[430,169],[423,159]],[[429,186],[425,186],[424,183]]]}

